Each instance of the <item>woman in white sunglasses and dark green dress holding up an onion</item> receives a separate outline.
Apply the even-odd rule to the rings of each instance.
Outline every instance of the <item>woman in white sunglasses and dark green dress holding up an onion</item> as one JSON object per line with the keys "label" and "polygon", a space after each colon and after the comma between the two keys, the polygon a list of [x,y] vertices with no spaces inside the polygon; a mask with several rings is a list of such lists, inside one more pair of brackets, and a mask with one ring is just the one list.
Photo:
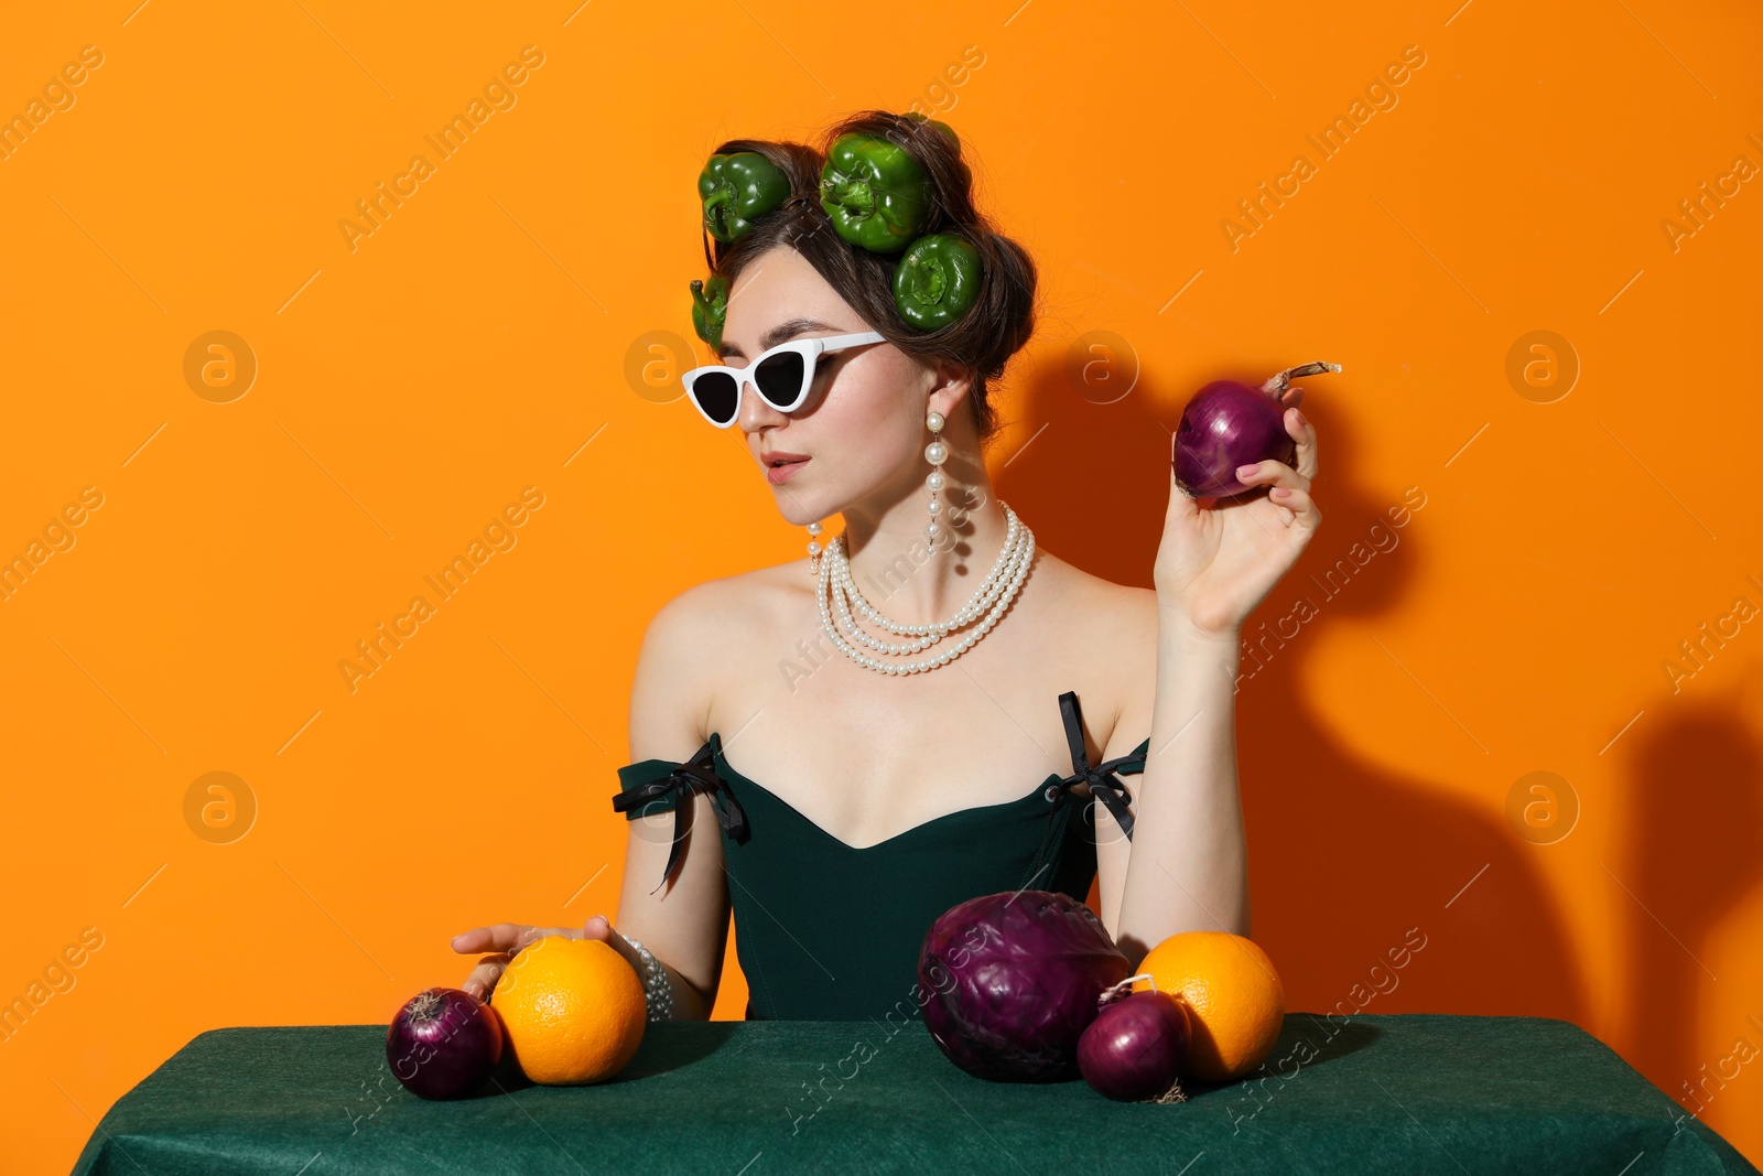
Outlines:
{"label": "woman in white sunglasses and dark green dress holding up an onion", "polygon": [[[755,139],[712,157],[751,153],[748,197],[765,176],[776,187],[739,222],[707,197],[712,279],[728,286],[725,309],[700,303],[700,337],[721,363],[688,376],[698,411],[739,425],[755,476],[815,536],[809,557],[656,614],[631,696],[636,760],[619,769],[617,922],[457,936],[455,950],[488,952],[465,980],[480,996],[538,936],[587,936],[645,979],[651,1017],[707,1019],[730,908],[749,1017],[922,1005],[924,933],[980,894],[1084,901],[1098,880],[1134,963],[1178,931],[1250,931],[1234,679],[1243,621],[1320,524],[1301,391],[1282,398],[1298,467],[1239,471],[1266,494],[1194,499],[1171,476],[1155,591],[1086,575],[1035,545],[982,460],[994,384],[1033,331],[1028,254],[975,210],[943,123],[866,111],[825,143],[832,159]],[[853,143],[883,178],[855,196],[850,176],[822,183],[823,167],[860,171]],[[931,330],[896,296],[897,242],[853,243],[836,222],[846,197],[878,215],[890,167],[929,189],[911,233],[959,236],[978,261],[977,298]],[[832,515],[836,538],[820,532]]]}

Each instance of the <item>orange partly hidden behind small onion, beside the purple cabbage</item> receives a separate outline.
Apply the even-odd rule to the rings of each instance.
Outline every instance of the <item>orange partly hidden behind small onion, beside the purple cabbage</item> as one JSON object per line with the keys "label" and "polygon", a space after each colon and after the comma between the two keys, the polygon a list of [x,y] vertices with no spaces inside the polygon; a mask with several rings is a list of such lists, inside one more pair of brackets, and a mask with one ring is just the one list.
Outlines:
{"label": "orange partly hidden behind small onion, beside the purple cabbage", "polygon": [[[1285,1023],[1285,986],[1268,952],[1229,931],[1183,931],[1149,950],[1139,971],[1188,1007],[1186,1074],[1206,1083],[1243,1077],[1273,1053]],[[1134,991],[1151,980],[1134,980]]]}

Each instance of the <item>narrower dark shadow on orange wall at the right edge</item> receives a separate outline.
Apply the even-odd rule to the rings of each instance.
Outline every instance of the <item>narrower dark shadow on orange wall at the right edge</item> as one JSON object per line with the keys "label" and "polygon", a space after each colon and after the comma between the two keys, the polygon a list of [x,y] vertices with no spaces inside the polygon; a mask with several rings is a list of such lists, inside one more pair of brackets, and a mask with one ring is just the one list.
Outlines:
{"label": "narrower dark shadow on orange wall at the right edge", "polygon": [[1625,1056],[1685,1111],[1721,1118],[1722,1100],[1759,1105],[1754,1086],[1726,1093],[1719,1077],[1721,1070],[1733,1077],[1744,1058],[1721,1065],[1722,1056],[1696,1056],[1694,1042],[1705,1003],[1719,1026],[1715,1040],[1730,1049],[1747,1038],[1763,1049],[1763,1031],[1745,1016],[1763,1019],[1756,989],[1744,989],[1744,977],[1708,970],[1721,922],[1763,882],[1763,753],[1738,718],[1737,695],[1668,705],[1659,711],[1664,721],[1634,732],[1629,836],[1608,864],[1633,896],[1604,878],[1624,912],[1634,977],[1625,1009],[1633,1047]]}

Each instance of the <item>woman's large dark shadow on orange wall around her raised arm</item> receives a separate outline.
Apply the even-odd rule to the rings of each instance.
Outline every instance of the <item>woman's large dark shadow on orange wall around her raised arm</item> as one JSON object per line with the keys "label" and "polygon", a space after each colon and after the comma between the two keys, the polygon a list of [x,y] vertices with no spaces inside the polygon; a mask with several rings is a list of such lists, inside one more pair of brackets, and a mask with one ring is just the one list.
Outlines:
{"label": "woman's large dark shadow on orange wall around her raised arm", "polygon": [[[1051,425],[1019,457],[998,455],[1000,497],[1033,518],[1037,543],[1061,559],[1116,584],[1151,587],[1169,504],[1169,430],[1192,390],[1153,391],[1146,374],[1130,395],[1104,406],[1079,397],[1058,363],[1024,368],[1021,379],[1021,418]],[[1331,377],[1329,395],[1305,402],[1319,434],[1324,527],[1245,626],[1253,633],[1285,615],[1299,592],[1317,603],[1317,614],[1236,696],[1253,938],[1280,966],[1292,1010],[1580,1023],[1583,982],[1553,897],[1532,867],[1537,846],[1486,808],[1358,758],[1305,703],[1301,668],[1317,647],[1315,629],[1391,608],[1412,568],[1410,545],[1428,541],[1419,513],[1395,531],[1396,547],[1336,585],[1335,596],[1308,580],[1312,573],[1320,580],[1372,524],[1387,527],[1386,508],[1402,502],[1403,487],[1372,499],[1352,485],[1354,439],[1329,409],[1347,395],[1345,379]],[[1449,494],[1444,478],[1416,481],[1430,495]],[[1403,966],[1393,970],[1387,952],[1403,947]]]}

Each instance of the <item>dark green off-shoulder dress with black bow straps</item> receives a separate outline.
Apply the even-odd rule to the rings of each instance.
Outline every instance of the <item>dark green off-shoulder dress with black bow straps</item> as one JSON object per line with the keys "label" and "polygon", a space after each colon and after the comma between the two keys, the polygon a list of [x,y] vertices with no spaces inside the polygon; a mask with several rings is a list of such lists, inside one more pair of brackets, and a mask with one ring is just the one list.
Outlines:
{"label": "dark green off-shoulder dress with black bow straps", "polygon": [[665,882],[679,860],[677,800],[710,797],[749,1021],[880,1021],[890,1009],[911,1017],[924,934],[950,906],[1005,890],[1090,896],[1095,806],[1074,786],[1088,783],[1132,836],[1130,795],[1116,772],[1142,772],[1151,741],[1091,767],[1074,691],[1060,695],[1060,711],[1070,776],[1054,772],[1015,800],[947,813],[871,846],[839,841],[737,772],[718,732],[684,763],[621,767],[612,808],[628,820],[673,811]]}

